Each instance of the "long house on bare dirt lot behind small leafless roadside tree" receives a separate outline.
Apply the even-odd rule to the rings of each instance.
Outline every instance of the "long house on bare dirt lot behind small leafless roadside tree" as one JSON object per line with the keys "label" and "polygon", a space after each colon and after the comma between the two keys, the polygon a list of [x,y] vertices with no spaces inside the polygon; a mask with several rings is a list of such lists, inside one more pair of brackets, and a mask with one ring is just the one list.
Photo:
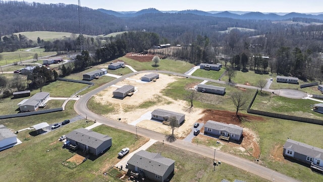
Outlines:
{"label": "long house on bare dirt lot behind small leafless roadside tree", "polygon": [[185,120],[185,114],[167,111],[164,109],[155,109],[151,112],[151,118],[159,121],[168,121],[171,116],[175,116],[178,121],[178,125],[180,125]]}

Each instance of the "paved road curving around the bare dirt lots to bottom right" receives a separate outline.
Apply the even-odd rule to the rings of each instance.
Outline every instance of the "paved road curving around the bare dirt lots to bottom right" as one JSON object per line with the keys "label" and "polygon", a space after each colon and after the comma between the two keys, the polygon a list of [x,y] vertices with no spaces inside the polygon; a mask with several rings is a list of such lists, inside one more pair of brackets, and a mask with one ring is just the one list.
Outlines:
{"label": "paved road curving around the bare dirt lots to bottom right", "polygon": [[[161,134],[161,133],[155,132],[153,130],[148,130],[145,128],[137,128],[136,129],[136,126],[102,117],[100,115],[93,113],[92,111],[90,111],[87,108],[86,103],[93,95],[99,93],[101,90],[103,90],[113,84],[118,83],[119,81],[124,80],[127,77],[136,75],[138,73],[144,73],[144,72],[159,72],[159,73],[166,73],[166,74],[174,74],[174,75],[178,75],[178,76],[196,78],[196,79],[201,79],[201,80],[208,80],[208,81],[212,81],[212,82],[226,83],[226,82],[223,82],[220,80],[201,78],[201,77],[190,76],[190,75],[185,75],[185,74],[181,74],[181,73],[174,73],[174,72],[170,72],[170,71],[157,71],[157,70],[138,71],[138,72],[126,74],[126,75],[124,75],[120,78],[117,78],[109,83],[106,83],[94,90],[91,90],[89,93],[83,95],[75,103],[75,105],[74,105],[75,111],[83,117],[86,117],[86,118],[93,120],[93,121],[100,122],[100,123],[105,124],[107,126],[122,129],[122,130],[125,130],[128,132],[131,132],[131,133],[137,132],[139,135],[145,136],[147,138],[151,138],[151,139],[157,140],[159,142],[164,141],[164,143],[175,146],[177,148],[181,148],[181,149],[184,149],[187,151],[191,151],[191,152],[209,157],[210,158],[209,165],[212,165],[213,160],[211,160],[211,159],[213,158],[213,155],[214,155],[214,151],[215,151],[214,149],[211,149],[211,148],[208,148],[205,146],[201,146],[201,145],[192,144],[190,142],[185,142],[185,141],[179,140],[179,139],[173,143],[165,142],[166,141],[165,134]],[[245,86],[247,86],[247,85],[245,85]],[[250,87],[250,86],[248,86],[248,87]],[[254,88],[257,89],[257,87],[254,87]],[[284,174],[274,171],[272,169],[258,165],[254,162],[251,162],[251,161],[245,160],[243,158],[240,158],[240,157],[237,157],[237,156],[234,156],[231,154],[227,154],[227,153],[224,153],[221,151],[216,151],[216,159],[220,160],[222,162],[225,162],[227,164],[230,164],[232,166],[238,167],[240,169],[246,170],[247,172],[253,173],[255,175],[258,175],[258,176],[263,177],[263,178],[270,180],[270,181],[273,181],[274,178],[275,178],[275,181],[299,181],[297,179],[294,179],[292,177],[289,177],[287,175],[284,175]]]}

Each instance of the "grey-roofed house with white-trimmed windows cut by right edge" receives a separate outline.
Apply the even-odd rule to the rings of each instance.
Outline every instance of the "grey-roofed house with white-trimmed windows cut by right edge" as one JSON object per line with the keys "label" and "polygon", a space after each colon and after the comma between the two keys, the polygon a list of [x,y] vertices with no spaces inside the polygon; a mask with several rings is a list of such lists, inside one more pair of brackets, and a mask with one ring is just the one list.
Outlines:
{"label": "grey-roofed house with white-trimmed windows cut by right edge", "polygon": [[288,139],[283,147],[283,155],[323,171],[323,149]]}

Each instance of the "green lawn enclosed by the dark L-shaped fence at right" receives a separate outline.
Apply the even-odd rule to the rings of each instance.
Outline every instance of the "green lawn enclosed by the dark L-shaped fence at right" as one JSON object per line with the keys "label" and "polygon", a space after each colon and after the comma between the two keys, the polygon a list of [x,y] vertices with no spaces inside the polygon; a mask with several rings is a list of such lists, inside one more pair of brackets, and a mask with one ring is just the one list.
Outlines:
{"label": "green lawn enclosed by the dark L-shaped fence at right", "polygon": [[318,102],[309,99],[290,99],[272,95],[270,93],[259,92],[251,109],[293,115],[299,117],[309,117],[323,119],[323,115],[312,111],[313,105]]}

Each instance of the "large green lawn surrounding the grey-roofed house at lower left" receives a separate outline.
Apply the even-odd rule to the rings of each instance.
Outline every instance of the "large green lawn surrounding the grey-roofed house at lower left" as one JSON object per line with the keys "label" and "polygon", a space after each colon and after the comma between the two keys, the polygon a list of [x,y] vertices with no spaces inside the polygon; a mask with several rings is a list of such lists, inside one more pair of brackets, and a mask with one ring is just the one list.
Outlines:
{"label": "large green lawn surrounding the grey-roofed house at lower left", "polygon": [[104,176],[103,171],[120,161],[118,152],[129,147],[131,151],[139,148],[146,138],[107,126],[98,126],[94,131],[108,134],[113,138],[113,145],[104,154],[91,161],[86,160],[74,169],[70,169],[62,162],[69,159],[74,153],[62,149],[62,142],[58,139],[73,129],[86,127],[93,122],[85,120],[76,121],[50,131],[43,135],[30,136],[29,131],[18,133],[18,138],[23,142],[11,149],[2,151],[0,160],[6,165],[1,165],[0,178],[6,181],[119,181],[109,175]]}

